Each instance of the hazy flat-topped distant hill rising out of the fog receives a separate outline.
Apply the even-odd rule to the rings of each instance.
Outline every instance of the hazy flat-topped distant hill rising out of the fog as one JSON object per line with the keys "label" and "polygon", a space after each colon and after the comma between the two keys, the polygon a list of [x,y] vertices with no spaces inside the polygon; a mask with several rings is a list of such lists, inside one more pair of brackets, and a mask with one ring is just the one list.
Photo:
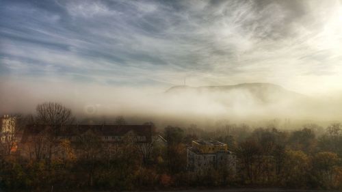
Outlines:
{"label": "hazy flat-topped distant hill rising out of the fog", "polygon": [[248,96],[261,102],[281,101],[305,98],[306,96],[285,90],[280,85],[272,83],[241,83],[237,85],[190,87],[187,85],[174,86],[166,90],[166,94],[199,94],[224,96]]}

